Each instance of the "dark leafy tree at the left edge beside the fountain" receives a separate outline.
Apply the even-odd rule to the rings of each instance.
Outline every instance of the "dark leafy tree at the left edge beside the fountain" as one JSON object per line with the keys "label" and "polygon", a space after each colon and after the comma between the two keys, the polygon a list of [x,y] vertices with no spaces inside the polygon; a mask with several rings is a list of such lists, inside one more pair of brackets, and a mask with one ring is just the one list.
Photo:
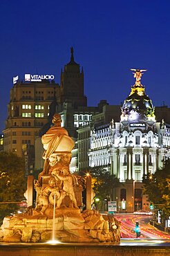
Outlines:
{"label": "dark leafy tree at the left edge beside the fountain", "polygon": [[26,191],[25,163],[12,152],[0,152],[0,219],[19,208]]}

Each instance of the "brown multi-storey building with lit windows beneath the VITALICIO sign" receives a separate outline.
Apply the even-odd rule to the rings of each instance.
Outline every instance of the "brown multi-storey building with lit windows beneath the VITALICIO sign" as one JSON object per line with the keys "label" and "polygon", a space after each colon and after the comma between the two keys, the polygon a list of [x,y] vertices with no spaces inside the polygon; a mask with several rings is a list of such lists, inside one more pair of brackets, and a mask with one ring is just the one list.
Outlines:
{"label": "brown multi-storey building with lit windows beneath the VITALICIO sign", "polygon": [[35,136],[45,125],[49,105],[59,95],[59,84],[48,82],[17,82],[10,89],[8,118],[4,134],[4,150],[22,156],[26,147],[34,147]]}

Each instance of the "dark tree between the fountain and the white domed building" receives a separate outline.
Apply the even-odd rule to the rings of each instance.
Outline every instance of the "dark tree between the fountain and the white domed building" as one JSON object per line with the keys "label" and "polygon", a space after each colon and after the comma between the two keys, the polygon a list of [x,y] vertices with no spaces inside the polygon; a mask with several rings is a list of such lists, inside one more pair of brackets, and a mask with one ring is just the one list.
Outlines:
{"label": "dark tree between the fountain and the white domed building", "polygon": [[93,190],[95,191],[95,197],[98,197],[100,200],[111,200],[113,189],[120,184],[120,181],[115,177],[115,175],[104,169],[104,167],[93,167],[90,170],[90,174],[93,177]]}

